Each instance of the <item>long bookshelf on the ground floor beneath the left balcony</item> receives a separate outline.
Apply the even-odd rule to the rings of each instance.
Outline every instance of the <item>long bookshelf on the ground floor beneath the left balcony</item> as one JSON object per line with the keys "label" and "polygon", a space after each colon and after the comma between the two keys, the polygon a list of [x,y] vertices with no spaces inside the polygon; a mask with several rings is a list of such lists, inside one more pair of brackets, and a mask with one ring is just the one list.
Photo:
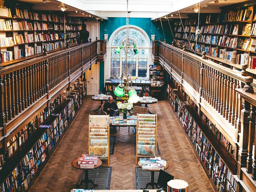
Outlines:
{"label": "long bookshelf on the ground floor beneath the left balcony", "polygon": [[[0,191],[25,191],[35,181],[80,109],[81,105],[76,109],[76,100],[85,95],[86,87],[80,77],[73,85],[74,90],[60,92],[49,103],[49,108],[42,110],[21,130],[6,136],[1,148],[5,162],[0,169]],[[14,150],[10,150],[12,146]]]}

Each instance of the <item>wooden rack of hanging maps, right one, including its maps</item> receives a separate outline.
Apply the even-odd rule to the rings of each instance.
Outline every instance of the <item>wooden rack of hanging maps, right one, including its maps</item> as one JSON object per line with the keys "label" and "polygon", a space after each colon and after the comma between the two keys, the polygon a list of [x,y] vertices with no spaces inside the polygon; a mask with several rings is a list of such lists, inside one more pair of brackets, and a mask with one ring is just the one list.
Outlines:
{"label": "wooden rack of hanging maps, right one, including its maps", "polygon": [[137,114],[136,162],[137,157],[156,156],[157,114]]}

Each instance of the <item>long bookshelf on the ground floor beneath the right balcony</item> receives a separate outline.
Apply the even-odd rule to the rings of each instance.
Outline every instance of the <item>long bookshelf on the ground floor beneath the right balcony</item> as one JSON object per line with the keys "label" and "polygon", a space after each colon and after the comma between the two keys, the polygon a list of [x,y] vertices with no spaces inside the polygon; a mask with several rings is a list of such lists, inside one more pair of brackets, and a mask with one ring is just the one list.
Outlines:
{"label": "long bookshelf on the ground floor beneath the right balcony", "polygon": [[[196,106],[189,103],[186,94],[180,93],[180,86],[173,80],[167,87],[170,105],[193,145],[200,162],[218,191],[236,191],[237,162],[234,152],[223,144],[223,137],[204,115],[201,118]],[[210,125],[210,127],[208,126]],[[215,132],[214,132],[215,130]],[[226,141],[226,140],[225,140]],[[227,141],[228,142],[228,141]],[[228,142],[229,146],[230,143]],[[232,149],[232,148],[231,148]]]}

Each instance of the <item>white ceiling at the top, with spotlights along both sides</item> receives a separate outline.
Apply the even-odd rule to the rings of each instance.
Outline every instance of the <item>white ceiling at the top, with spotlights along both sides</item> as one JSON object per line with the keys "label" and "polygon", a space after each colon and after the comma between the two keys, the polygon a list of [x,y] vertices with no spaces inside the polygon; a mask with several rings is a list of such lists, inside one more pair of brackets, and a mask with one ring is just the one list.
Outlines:
{"label": "white ceiling at the top, with spotlights along both sides", "polygon": [[[33,8],[38,10],[60,10],[58,4],[67,6],[69,16],[86,16],[86,13],[95,17],[126,17],[126,0],[48,0],[43,3],[42,0],[21,0],[34,4]],[[182,18],[187,14],[193,13],[192,8],[207,4],[207,7],[200,8],[200,12],[220,12],[219,7],[242,2],[241,0],[219,0],[215,4],[213,0],[129,0],[128,11],[131,11],[130,17],[156,19],[163,16],[170,16],[178,13]],[[84,15],[75,11],[84,11]],[[186,10],[188,10],[186,12]],[[87,16],[87,17],[88,17]],[[174,14],[173,18],[179,18]]]}

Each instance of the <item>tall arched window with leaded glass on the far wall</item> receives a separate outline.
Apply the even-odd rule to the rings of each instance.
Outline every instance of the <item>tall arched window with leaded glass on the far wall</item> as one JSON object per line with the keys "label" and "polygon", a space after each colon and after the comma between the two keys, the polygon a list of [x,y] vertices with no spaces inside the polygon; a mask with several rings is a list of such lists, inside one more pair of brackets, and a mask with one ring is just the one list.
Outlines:
{"label": "tall arched window with leaded glass on the far wall", "polygon": [[[138,54],[134,55],[133,49],[129,50],[127,54],[128,75],[133,77],[147,77],[148,75],[148,47],[150,42],[147,41],[146,36],[142,31],[130,26],[129,38],[137,45]],[[123,48],[119,53],[116,48],[126,40],[126,28],[120,29],[116,32],[110,45],[111,50],[111,66],[110,76],[121,76],[125,73],[125,49]]]}

